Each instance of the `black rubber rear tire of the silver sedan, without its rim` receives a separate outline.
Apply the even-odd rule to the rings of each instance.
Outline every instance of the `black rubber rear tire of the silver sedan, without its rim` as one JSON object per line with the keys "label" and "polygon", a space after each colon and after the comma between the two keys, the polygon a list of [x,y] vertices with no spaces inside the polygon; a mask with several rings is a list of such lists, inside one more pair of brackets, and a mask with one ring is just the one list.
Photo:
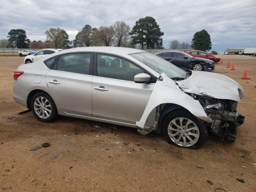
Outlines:
{"label": "black rubber rear tire of the silver sedan, without its rim", "polygon": [[[50,115],[47,118],[41,118],[40,116],[38,116],[38,114],[35,111],[34,102],[39,97],[46,98],[48,100],[48,102],[50,103],[51,112],[50,112]],[[30,102],[30,107],[31,107],[31,110],[32,110],[34,116],[42,122],[52,122],[52,121],[56,120],[56,118],[58,116],[58,111],[57,111],[57,108],[56,108],[56,105],[55,105],[54,101],[45,92],[38,92],[38,93],[34,94],[34,96],[31,99],[31,102]]]}

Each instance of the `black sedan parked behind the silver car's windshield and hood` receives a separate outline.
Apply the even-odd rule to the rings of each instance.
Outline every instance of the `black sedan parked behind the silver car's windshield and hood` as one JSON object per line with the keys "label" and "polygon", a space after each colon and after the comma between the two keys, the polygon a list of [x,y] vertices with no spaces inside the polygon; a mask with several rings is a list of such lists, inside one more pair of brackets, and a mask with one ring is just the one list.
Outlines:
{"label": "black sedan parked behind the silver car's windshield and hood", "polygon": [[159,52],[155,55],[182,69],[191,69],[195,71],[212,71],[215,67],[215,64],[212,60],[193,57],[190,54],[181,51]]}

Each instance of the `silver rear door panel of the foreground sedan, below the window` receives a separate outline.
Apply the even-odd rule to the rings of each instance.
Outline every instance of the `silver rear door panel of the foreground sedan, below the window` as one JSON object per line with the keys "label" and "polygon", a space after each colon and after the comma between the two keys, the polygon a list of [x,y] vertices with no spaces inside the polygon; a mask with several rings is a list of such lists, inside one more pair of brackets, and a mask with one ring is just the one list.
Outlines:
{"label": "silver rear door panel of the foreground sedan, below the window", "polygon": [[92,115],[92,76],[50,70],[46,74],[46,84],[64,112],[82,116]]}

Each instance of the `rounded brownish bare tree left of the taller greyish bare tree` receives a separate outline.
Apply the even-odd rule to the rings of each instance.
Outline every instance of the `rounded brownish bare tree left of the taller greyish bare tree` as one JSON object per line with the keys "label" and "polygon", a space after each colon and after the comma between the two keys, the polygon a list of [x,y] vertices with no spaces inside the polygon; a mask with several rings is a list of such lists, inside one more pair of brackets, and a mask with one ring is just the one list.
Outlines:
{"label": "rounded brownish bare tree left of the taller greyish bare tree", "polygon": [[101,26],[97,31],[97,36],[100,39],[100,42],[102,42],[105,46],[111,46],[111,44],[114,42],[115,37],[115,31],[113,26]]}

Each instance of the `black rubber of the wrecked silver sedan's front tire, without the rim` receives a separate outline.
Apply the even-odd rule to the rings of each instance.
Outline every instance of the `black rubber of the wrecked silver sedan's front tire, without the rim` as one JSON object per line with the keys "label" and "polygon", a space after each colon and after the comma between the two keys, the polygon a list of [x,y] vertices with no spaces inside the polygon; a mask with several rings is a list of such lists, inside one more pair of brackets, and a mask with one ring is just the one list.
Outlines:
{"label": "black rubber of the wrecked silver sedan's front tire, without the rim", "polygon": [[[176,143],[174,143],[172,141],[172,139],[170,138],[169,134],[168,134],[168,125],[170,124],[170,122],[172,120],[175,120],[176,118],[186,118],[186,119],[189,119],[191,120],[194,124],[196,124],[198,130],[199,130],[199,138],[198,140],[196,141],[195,144],[193,145],[190,145],[188,144],[187,147],[184,147],[184,146],[180,146]],[[186,120],[184,120],[186,121]],[[183,127],[184,128],[184,127]],[[186,132],[186,130],[182,130],[182,131],[185,131],[185,134],[188,133]],[[193,132],[194,130],[192,130]],[[178,110],[174,110],[174,111],[171,111],[169,112],[168,114],[166,114],[162,120],[162,132],[163,132],[163,135],[164,135],[164,138],[166,139],[166,141],[170,144],[173,144],[175,146],[179,146],[179,147],[183,147],[183,148],[190,148],[190,149],[198,149],[200,148],[205,140],[208,138],[208,131],[207,131],[207,128],[206,126],[204,126],[204,124],[202,124],[202,122],[200,122],[199,120],[197,120],[197,118],[195,118],[190,112],[186,111],[186,110],[182,110],[182,109],[178,109]],[[196,132],[196,131],[194,131]],[[198,131],[197,131],[198,132]],[[180,133],[179,133],[180,135]],[[179,135],[177,135],[179,137]],[[181,136],[181,135],[180,135]],[[185,137],[185,136],[184,136]],[[187,136],[186,136],[187,137]],[[186,138],[185,137],[185,138]],[[193,136],[192,136],[193,137]],[[190,136],[191,138],[191,136]],[[196,139],[196,138],[194,138]],[[188,143],[190,142],[188,137],[186,138],[186,140],[188,141]],[[182,137],[182,142],[184,142],[183,140],[183,137]],[[191,144],[191,143],[190,143]]]}

